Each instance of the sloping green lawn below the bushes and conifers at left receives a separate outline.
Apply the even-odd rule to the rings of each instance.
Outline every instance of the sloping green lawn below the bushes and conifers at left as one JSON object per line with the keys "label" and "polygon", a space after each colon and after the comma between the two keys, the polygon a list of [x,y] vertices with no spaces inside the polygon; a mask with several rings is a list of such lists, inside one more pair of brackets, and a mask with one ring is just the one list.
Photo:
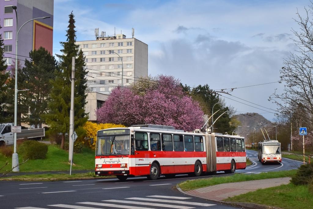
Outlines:
{"label": "sloping green lawn below the bushes and conifers at left", "polygon": [[[50,170],[69,170],[69,153],[60,149],[56,145],[48,145],[46,159],[28,160],[20,165],[20,171],[50,171]],[[22,163],[23,156],[18,156],[19,163]],[[12,157],[5,157],[0,154],[0,168],[8,162],[8,165],[2,169],[9,170],[12,167]],[[72,170],[94,170],[95,169],[95,151],[84,148],[82,153],[74,153]]]}

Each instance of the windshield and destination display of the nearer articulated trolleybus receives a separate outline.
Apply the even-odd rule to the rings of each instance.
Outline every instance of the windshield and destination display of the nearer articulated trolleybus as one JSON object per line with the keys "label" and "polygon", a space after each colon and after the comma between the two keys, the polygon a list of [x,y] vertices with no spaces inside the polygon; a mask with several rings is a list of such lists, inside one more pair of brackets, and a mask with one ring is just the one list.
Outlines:
{"label": "windshield and destination display of the nearer articulated trolleybus", "polygon": [[96,155],[130,154],[129,130],[108,130],[99,132]]}

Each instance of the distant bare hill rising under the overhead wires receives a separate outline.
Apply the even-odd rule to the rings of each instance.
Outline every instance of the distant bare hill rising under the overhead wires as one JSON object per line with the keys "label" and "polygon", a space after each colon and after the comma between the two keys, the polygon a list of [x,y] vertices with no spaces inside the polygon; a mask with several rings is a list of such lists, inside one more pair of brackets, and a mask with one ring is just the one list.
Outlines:
{"label": "distant bare hill rising under the overhead wires", "polygon": [[269,120],[255,112],[247,112],[244,114],[235,115],[234,117],[240,121],[241,126],[250,126],[250,128],[254,127],[257,129],[257,131],[259,127],[272,125]]}

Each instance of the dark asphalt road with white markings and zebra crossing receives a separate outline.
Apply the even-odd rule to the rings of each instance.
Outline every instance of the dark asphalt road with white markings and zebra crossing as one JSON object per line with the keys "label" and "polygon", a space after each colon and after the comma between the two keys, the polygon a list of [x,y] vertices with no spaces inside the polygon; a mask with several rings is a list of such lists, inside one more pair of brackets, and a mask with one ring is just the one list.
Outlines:
{"label": "dark asphalt road with white markings and zebra crossing", "polygon": [[[247,150],[247,156],[255,162],[246,170],[237,173],[260,173],[276,170],[290,170],[301,162],[283,159],[280,165],[262,165],[257,152]],[[215,176],[225,176],[218,172]],[[231,175],[231,174],[228,174]],[[173,188],[177,183],[197,178],[178,175],[167,179],[147,180],[146,177],[134,177],[121,182],[117,179],[17,182],[0,181],[0,208],[52,209],[52,208],[236,208],[214,201],[187,196]]]}

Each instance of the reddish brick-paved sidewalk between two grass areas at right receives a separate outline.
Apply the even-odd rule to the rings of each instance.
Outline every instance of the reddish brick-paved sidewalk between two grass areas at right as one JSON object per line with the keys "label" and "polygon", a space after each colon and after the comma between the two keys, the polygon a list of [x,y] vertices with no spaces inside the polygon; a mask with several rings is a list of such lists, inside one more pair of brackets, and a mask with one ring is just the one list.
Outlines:
{"label": "reddish brick-paved sidewalk between two grass areas at right", "polygon": [[213,201],[222,201],[228,197],[237,196],[255,191],[258,189],[265,189],[268,187],[279,186],[288,184],[291,178],[275,178],[275,179],[262,179],[253,181],[242,181],[227,184],[219,184],[214,186],[207,186],[196,190],[184,191],[184,193],[192,196],[201,197]]}

